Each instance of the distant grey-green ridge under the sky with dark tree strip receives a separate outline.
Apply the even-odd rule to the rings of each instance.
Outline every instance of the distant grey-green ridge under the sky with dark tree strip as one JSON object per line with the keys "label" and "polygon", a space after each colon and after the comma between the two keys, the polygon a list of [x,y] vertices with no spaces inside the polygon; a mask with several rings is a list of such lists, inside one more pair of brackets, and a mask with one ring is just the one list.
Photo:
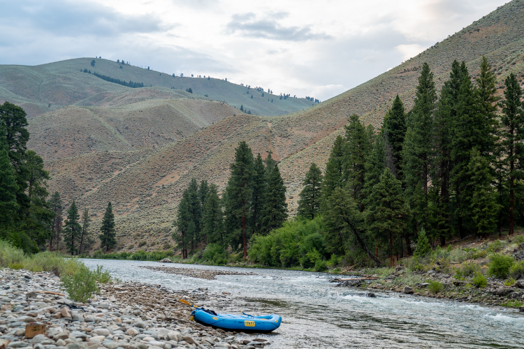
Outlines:
{"label": "distant grey-green ridge under the sky with dark tree strip", "polygon": [[[93,59],[96,62],[94,67],[91,66]],[[252,114],[258,115],[282,115],[312,105],[305,98],[280,100],[279,96],[267,92],[262,96],[262,92],[254,88],[249,89],[247,94],[247,87],[221,78],[173,77],[155,70],[93,57],[68,59],[40,66],[0,65],[0,103],[9,101],[20,105],[29,117],[34,117],[66,105],[99,105],[115,94],[132,93],[133,89],[129,87],[82,73],[80,70],[83,69],[126,82],[142,82],[147,86],[174,88],[179,91],[191,88],[194,94],[208,95],[211,100],[223,101],[237,108],[243,105]]]}

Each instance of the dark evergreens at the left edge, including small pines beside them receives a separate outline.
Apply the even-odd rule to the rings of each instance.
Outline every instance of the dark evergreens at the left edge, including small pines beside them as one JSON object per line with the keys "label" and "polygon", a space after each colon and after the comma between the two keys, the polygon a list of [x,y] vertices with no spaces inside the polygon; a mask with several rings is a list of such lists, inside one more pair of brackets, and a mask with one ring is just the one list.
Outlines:
{"label": "dark evergreens at the left edge, including small pines beside them", "polygon": [[[80,218],[73,200],[64,220],[60,193],[48,200],[49,172],[41,156],[27,149],[26,116],[17,105],[0,105],[0,239],[26,253],[58,251],[63,240],[71,255],[82,253],[82,248],[92,243],[89,209],[85,207]],[[111,203],[99,239],[106,249],[116,244]]]}

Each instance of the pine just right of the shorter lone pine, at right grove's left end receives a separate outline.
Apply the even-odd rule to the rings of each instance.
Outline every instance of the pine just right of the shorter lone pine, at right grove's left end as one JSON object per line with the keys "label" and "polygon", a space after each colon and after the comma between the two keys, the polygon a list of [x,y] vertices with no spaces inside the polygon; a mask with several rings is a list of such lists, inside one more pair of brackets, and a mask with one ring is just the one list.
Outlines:
{"label": "pine just right of the shorter lone pine, at right grove's left end", "polygon": [[347,144],[342,136],[337,135],[335,143],[329,154],[326,172],[322,181],[321,211],[326,211],[327,202],[335,188],[344,188],[346,181],[342,176],[344,172],[344,158],[347,153]]}

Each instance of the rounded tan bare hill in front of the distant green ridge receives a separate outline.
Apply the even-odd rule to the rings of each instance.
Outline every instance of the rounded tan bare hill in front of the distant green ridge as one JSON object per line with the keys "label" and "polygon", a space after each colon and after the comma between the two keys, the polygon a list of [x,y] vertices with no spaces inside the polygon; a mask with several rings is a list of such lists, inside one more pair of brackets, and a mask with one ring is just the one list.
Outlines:
{"label": "rounded tan bare hill in front of the distant green ridge", "polygon": [[133,89],[105,98],[96,107],[71,105],[33,117],[28,147],[45,161],[157,147],[238,112],[226,103],[175,91],[180,90]]}

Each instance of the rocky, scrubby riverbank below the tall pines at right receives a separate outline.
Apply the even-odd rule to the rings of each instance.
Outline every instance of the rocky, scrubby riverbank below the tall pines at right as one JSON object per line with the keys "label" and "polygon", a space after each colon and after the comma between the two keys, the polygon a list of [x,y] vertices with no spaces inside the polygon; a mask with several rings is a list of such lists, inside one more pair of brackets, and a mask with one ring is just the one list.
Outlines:
{"label": "rocky, scrubby riverbank below the tall pines at right", "polygon": [[[363,276],[376,278],[376,280],[365,280],[355,276],[354,281],[333,279],[333,282],[338,282],[337,286],[358,287],[368,291],[390,290],[409,295],[453,299],[457,302],[509,306],[524,311],[524,281],[516,281],[514,285],[504,285],[504,281],[500,279],[489,278],[486,287],[476,288],[472,285],[470,278],[458,280],[449,274],[439,273],[435,270],[430,270],[427,273],[409,273],[401,267],[397,267],[393,274],[385,278],[378,278],[374,274]],[[439,283],[442,288],[439,285],[431,287],[431,282]]]}

